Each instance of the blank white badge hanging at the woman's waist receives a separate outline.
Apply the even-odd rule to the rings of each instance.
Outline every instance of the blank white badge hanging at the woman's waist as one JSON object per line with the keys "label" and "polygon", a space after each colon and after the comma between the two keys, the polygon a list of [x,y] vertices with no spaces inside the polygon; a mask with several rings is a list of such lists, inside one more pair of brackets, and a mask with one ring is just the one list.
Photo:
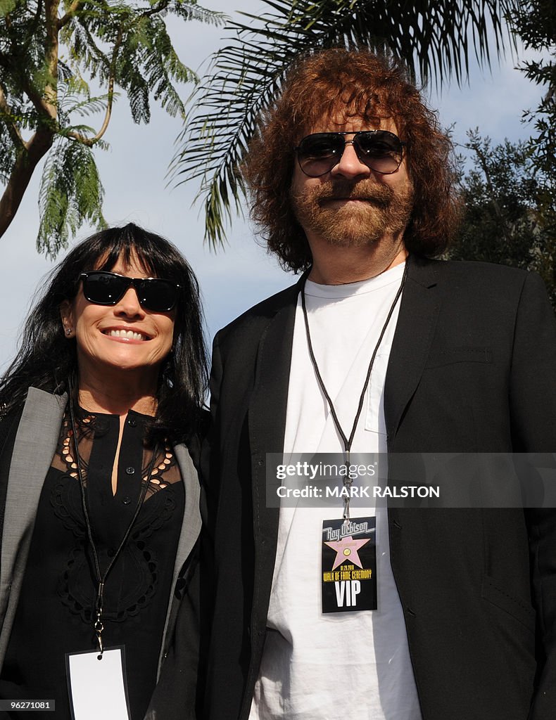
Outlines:
{"label": "blank white badge hanging at the woman's waist", "polygon": [[71,716],[74,720],[130,720],[122,647],[66,653]]}

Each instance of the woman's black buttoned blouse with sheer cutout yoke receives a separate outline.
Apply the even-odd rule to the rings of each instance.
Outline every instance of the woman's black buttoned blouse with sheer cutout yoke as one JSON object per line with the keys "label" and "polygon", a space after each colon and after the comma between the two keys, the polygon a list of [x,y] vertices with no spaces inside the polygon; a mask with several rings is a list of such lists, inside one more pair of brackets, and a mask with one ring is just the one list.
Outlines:
{"label": "woman's black buttoned blouse with sheer cutout yoke", "polygon": [[[120,545],[146,482],[152,459],[152,449],[144,445],[147,420],[132,410],[128,413],[115,495],[112,465],[120,418],[91,413],[79,422],[79,456],[102,572]],[[0,676],[0,698],[56,701],[54,713],[33,711],[35,719],[71,718],[65,654],[97,647],[92,627],[97,583],[75,460],[66,418],[40,495],[25,578]],[[143,718],[156,684],[185,505],[180,480],[172,449],[159,447],[138,518],[105,584],[102,639],[105,647],[125,647],[133,720]],[[28,712],[7,716],[29,719]]]}

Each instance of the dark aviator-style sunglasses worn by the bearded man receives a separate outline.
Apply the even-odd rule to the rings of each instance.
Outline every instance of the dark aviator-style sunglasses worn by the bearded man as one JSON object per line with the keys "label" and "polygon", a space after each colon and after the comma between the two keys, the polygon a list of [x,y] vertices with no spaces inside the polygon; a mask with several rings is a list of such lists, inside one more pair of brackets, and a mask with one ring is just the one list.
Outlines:
{"label": "dark aviator-style sunglasses worn by the bearded man", "polygon": [[[345,140],[353,135],[353,140]],[[383,175],[395,173],[402,164],[406,143],[389,130],[314,132],[295,148],[301,170],[310,178],[329,173],[340,162],[345,145],[353,145],[359,161]]]}

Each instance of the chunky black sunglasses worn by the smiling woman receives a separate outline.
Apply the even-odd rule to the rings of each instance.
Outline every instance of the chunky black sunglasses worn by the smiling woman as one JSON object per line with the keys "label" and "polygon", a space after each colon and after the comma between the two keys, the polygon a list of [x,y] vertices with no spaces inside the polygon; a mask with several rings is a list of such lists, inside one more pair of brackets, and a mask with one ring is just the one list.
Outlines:
{"label": "chunky black sunglasses worn by the smiling woman", "polygon": [[129,287],[137,293],[139,305],[152,312],[169,312],[177,302],[177,289],[173,280],[157,277],[137,278],[118,275],[107,270],[82,272],[83,294],[94,305],[115,305],[121,300]]}

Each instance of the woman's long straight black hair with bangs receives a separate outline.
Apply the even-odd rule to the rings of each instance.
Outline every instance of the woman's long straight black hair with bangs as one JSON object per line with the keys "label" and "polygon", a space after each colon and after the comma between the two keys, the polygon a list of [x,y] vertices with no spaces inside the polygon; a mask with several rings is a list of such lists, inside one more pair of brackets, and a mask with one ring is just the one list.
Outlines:
{"label": "woman's long straight black hair with bangs", "polygon": [[200,423],[208,377],[199,286],[172,243],[133,223],[83,240],[50,272],[43,296],[27,317],[19,352],[0,380],[2,414],[21,407],[31,386],[61,395],[69,390],[69,378],[79,378],[75,339],[64,337],[60,305],[76,296],[81,272],[110,270],[118,258],[125,264],[137,258],[149,275],[180,285],[174,348],[160,372],[149,439],[187,441]]}

